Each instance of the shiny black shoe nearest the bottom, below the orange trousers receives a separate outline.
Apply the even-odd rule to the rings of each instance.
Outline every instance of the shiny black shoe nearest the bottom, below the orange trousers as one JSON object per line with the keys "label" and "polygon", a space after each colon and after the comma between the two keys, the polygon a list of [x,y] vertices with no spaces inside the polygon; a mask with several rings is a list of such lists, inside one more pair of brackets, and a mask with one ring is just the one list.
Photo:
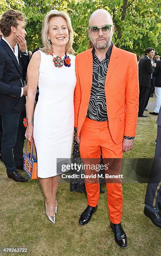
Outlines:
{"label": "shiny black shoe nearest the bottom, below the orange trousers", "polygon": [[127,246],[127,237],[124,232],[124,229],[121,226],[121,223],[114,224],[110,222],[110,227],[112,231],[114,232],[114,240],[115,242],[122,248],[125,248]]}

